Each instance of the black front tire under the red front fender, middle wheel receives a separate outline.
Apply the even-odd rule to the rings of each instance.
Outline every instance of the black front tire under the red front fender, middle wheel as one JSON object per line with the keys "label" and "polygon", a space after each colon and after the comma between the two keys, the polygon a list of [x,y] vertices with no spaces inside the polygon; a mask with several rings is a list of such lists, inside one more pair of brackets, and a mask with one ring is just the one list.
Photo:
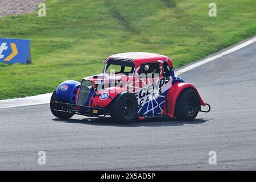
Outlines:
{"label": "black front tire under the red front fender, middle wheel", "polygon": [[138,103],[132,93],[122,92],[110,105],[110,115],[115,123],[127,124],[138,119]]}

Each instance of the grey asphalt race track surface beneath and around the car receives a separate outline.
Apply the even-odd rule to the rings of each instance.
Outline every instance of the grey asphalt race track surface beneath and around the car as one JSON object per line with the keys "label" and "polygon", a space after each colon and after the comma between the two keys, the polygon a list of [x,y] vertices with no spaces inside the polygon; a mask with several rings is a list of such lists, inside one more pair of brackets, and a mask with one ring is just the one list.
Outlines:
{"label": "grey asphalt race track surface beneath and around the car", "polygon": [[49,105],[0,109],[0,169],[255,170],[256,43],[179,76],[197,86],[210,113],[116,125],[56,119]]}

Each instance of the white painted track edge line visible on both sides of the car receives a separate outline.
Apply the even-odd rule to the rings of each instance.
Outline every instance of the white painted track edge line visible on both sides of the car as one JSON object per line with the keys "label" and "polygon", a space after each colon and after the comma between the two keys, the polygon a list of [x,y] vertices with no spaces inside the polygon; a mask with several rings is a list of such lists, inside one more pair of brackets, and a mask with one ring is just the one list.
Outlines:
{"label": "white painted track edge line visible on both sides of the car", "polygon": [[[203,65],[205,63],[209,63],[210,61],[216,60],[219,57],[222,57],[222,56],[225,56],[229,53],[237,51],[238,49],[246,47],[249,44],[252,44],[254,42],[256,42],[256,37],[253,37],[249,40],[246,40],[245,42],[238,43],[237,46],[226,49],[225,51],[222,51],[220,53],[217,53],[216,55],[207,57],[206,59],[203,59],[201,61],[197,61],[196,63],[190,64],[187,67],[181,68],[181,69],[179,69],[178,71],[175,72],[175,75],[176,76],[180,75],[181,73],[184,73],[184,72],[187,72],[187,71],[189,71],[193,68],[199,67],[200,65]],[[31,105],[39,105],[39,104],[48,104],[49,100],[51,99],[51,94],[52,93],[47,93],[47,94],[41,94],[41,95],[32,96],[32,97],[0,100],[0,109],[10,108],[10,107],[19,107],[19,106],[31,106]]]}

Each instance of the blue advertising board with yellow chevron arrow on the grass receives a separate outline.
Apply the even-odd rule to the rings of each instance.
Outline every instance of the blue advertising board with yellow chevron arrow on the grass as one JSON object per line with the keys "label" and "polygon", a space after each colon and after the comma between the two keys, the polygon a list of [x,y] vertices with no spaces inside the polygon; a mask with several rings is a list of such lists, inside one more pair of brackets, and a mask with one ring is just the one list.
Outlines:
{"label": "blue advertising board with yellow chevron arrow on the grass", "polygon": [[30,40],[0,38],[0,63],[31,63]]}

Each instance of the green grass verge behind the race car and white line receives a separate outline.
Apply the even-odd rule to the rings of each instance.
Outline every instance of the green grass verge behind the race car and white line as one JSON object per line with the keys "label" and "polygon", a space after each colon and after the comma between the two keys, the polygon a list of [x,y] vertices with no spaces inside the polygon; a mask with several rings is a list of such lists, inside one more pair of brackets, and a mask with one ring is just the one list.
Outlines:
{"label": "green grass verge behind the race car and white line", "polygon": [[254,0],[214,2],[217,17],[204,0],[47,0],[46,17],[1,18],[0,37],[31,39],[32,64],[0,64],[0,100],[100,73],[114,53],[160,53],[178,68],[256,33]]}

